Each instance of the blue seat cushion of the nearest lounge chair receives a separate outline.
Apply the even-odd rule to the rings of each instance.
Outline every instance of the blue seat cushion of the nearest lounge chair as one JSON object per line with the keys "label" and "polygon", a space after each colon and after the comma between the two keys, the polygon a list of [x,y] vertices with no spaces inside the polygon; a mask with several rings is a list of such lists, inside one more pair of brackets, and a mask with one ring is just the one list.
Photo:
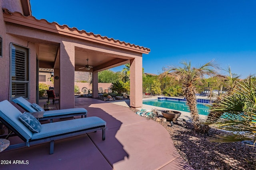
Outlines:
{"label": "blue seat cushion of the nearest lounge chair", "polygon": [[97,126],[104,126],[106,122],[99,117],[86,117],[81,119],[72,119],[66,121],[58,121],[54,123],[42,124],[41,132],[34,133],[31,140],[54,137],[65,133],[74,133],[90,129]]}

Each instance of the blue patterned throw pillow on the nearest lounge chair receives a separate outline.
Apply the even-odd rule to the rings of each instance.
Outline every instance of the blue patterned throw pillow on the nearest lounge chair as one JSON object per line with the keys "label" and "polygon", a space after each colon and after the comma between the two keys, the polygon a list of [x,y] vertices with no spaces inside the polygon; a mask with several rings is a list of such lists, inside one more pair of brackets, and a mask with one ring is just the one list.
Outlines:
{"label": "blue patterned throw pillow on the nearest lounge chair", "polygon": [[41,131],[41,123],[32,114],[25,111],[19,119],[30,131],[36,133]]}

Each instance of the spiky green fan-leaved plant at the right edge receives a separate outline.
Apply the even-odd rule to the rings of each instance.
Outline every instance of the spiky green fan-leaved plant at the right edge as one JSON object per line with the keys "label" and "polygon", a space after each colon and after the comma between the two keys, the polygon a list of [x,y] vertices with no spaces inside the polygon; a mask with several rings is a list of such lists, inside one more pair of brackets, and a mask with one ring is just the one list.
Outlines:
{"label": "spiky green fan-leaved plant at the right edge", "polygon": [[230,131],[229,135],[209,138],[224,143],[256,141],[256,84],[249,77],[238,82],[227,94],[221,96],[210,107],[206,124]]}

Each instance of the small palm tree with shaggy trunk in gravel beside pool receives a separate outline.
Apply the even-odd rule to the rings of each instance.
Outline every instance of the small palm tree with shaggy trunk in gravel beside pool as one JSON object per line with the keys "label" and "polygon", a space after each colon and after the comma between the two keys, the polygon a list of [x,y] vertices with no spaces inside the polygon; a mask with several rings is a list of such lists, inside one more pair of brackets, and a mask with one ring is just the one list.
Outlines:
{"label": "small palm tree with shaggy trunk in gravel beside pool", "polygon": [[190,109],[191,119],[196,131],[204,133],[208,130],[207,126],[203,125],[199,121],[198,110],[196,107],[196,84],[202,83],[201,80],[204,76],[217,75],[218,64],[214,60],[198,67],[192,67],[191,62],[181,62],[183,67],[169,66],[169,69],[165,72],[167,75],[172,74],[177,77],[177,80],[182,84],[183,94],[186,97],[186,105]]}

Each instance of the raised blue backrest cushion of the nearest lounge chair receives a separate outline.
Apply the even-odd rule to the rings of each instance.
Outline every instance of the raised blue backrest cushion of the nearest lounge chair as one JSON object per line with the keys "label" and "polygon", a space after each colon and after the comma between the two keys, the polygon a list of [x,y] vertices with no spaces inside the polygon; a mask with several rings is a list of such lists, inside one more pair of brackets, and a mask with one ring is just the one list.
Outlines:
{"label": "raised blue backrest cushion of the nearest lounge chair", "polygon": [[31,139],[33,135],[32,131],[18,118],[22,113],[7,100],[0,102],[0,108],[0,117],[14,127],[26,140]]}

